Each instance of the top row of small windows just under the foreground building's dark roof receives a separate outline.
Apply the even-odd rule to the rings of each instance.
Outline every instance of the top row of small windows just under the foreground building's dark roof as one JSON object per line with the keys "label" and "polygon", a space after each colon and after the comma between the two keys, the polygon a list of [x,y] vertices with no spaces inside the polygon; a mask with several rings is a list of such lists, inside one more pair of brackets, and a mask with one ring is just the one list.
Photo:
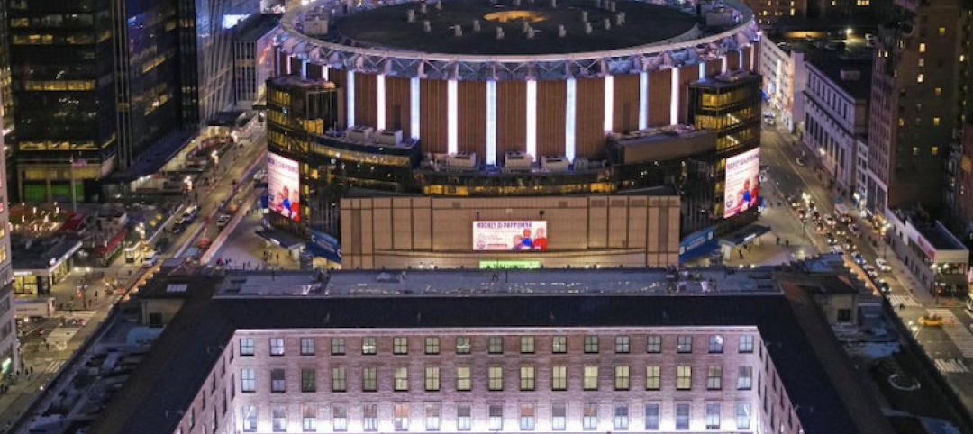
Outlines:
{"label": "top row of small windows just under the foreground building's dark roof", "polygon": [[[520,339],[520,352],[522,354],[533,354],[537,350],[537,340],[532,336],[522,336]],[[331,355],[346,354],[345,338],[331,338],[329,352]],[[439,354],[441,350],[441,339],[438,337],[424,338],[425,354]],[[739,337],[737,350],[740,353],[753,352],[753,336],[742,335]],[[501,336],[491,336],[486,343],[486,352],[489,354],[503,354],[505,340]],[[676,337],[676,352],[692,353],[693,336],[679,335]],[[270,355],[282,356],[285,352],[284,338],[270,338]],[[631,337],[627,335],[615,337],[615,352],[630,353],[632,350]],[[722,353],[724,346],[723,335],[709,335],[707,340],[707,350],[710,353]],[[250,356],[256,352],[254,338],[240,338],[240,355]],[[473,341],[468,336],[459,336],[455,339],[456,354],[471,354],[473,352]],[[584,351],[589,354],[596,354],[601,350],[601,339],[595,335],[584,337]],[[663,350],[663,337],[661,335],[649,335],[645,339],[645,352],[658,353]],[[301,338],[301,355],[315,355],[317,352],[314,338]],[[555,336],[551,339],[551,352],[566,353],[567,337]],[[375,337],[365,337],[361,339],[361,353],[366,355],[378,354],[378,344]],[[392,338],[392,354],[409,354],[409,338]]]}

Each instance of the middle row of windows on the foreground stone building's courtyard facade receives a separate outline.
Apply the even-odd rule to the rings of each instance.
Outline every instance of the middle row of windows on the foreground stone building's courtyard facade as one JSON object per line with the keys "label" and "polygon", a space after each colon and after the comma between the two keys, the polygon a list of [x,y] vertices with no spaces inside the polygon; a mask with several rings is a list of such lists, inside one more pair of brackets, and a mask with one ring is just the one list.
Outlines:
{"label": "middle row of windows on the foreground stone building's courtyard facade", "polygon": [[[439,391],[443,386],[444,369],[438,366],[428,366],[422,370],[423,389],[427,392]],[[502,391],[505,386],[504,369],[501,366],[490,366],[486,370],[486,387],[490,391]],[[537,368],[534,366],[521,366],[519,370],[518,384],[521,391],[537,390]],[[568,367],[551,367],[550,387],[554,391],[564,391],[568,389]],[[573,370],[572,370],[573,371]],[[460,366],[450,369],[450,388],[456,391],[471,391],[473,389],[473,376],[468,366]],[[574,374],[572,372],[572,374]],[[582,389],[599,390],[600,369],[597,366],[585,366],[582,368]],[[287,370],[274,368],[270,370],[270,392],[287,392]],[[400,367],[392,370],[392,390],[406,392],[409,391],[409,368]],[[632,388],[631,367],[616,366],[614,370],[613,388],[614,390],[630,390]],[[635,379],[640,380],[640,379]],[[378,368],[365,367],[361,369],[361,390],[363,392],[378,391]],[[662,389],[662,368],[659,365],[649,365],[645,367],[644,384],[639,384],[638,388],[644,385],[645,390]],[[753,387],[753,367],[739,366],[737,369],[737,390],[750,390]],[[675,376],[676,390],[691,390],[693,388],[693,367],[677,366]],[[723,389],[723,367],[711,365],[705,371],[706,390]],[[328,389],[332,392],[345,392],[348,390],[347,369],[342,366],[331,368],[331,384]],[[240,390],[245,393],[257,391],[257,371],[253,368],[243,368],[240,370]],[[301,369],[301,391],[318,391],[317,371],[314,369]]]}

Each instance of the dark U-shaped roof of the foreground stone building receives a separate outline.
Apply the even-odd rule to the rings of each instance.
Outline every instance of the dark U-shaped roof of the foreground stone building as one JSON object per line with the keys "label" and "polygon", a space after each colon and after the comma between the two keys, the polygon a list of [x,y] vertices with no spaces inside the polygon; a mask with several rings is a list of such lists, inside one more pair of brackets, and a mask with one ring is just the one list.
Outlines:
{"label": "dark U-shaped roof of the foreground stone building", "polygon": [[[488,272],[488,271],[487,271]],[[563,273],[563,271],[558,271]],[[622,271],[578,271],[574,280],[599,287],[597,280],[618,281]],[[661,271],[665,272],[665,271]],[[757,271],[755,271],[757,272]],[[265,284],[279,284],[265,272]],[[506,272],[504,272],[506,274]],[[520,274],[520,276],[518,276]],[[231,273],[226,280],[239,274]],[[305,273],[305,283],[314,272]],[[350,291],[359,281],[374,284],[375,272],[338,272],[325,288]],[[442,281],[462,288],[482,285],[483,275],[464,280],[464,271],[412,272],[414,287],[441,288]],[[549,271],[510,271],[518,281],[551,280]],[[747,273],[739,273],[738,278]],[[752,274],[751,274],[752,275]],[[638,277],[633,275],[630,277]],[[280,277],[296,279],[295,276]],[[454,281],[454,278],[460,278]],[[491,277],[492,278],[492,277]],[[507,280],[506,275],[496,280]],[[268,280],[270,279],[270,280]],[[171,433],[178,417],[160,409],[184,409],[205,384],[223,348],[237,330],[308,330],[376,328],[496,327],[756,327],[779,378],[810,433],[889,433],[874,398],[857,385],[847,356],[806,293],[785,280],[781,290],[758,294],[672,294],[659,297],[577,293],[497,297],[213,297],[225,284],[215,279],[189,283],[191,294],[141,365],[91,425],[100,434]],[[565,280],[565,279],[556,279]],[[721,283],[723,285],[724,283]]]}

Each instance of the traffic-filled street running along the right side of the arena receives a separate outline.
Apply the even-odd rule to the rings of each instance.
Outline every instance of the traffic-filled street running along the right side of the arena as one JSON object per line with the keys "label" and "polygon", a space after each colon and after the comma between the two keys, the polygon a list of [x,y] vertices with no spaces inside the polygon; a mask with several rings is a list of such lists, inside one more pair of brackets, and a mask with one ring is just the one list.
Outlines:
{"label": "traffic-filled street running along the right side of the arena", "polygon": [[[814,168],[817,166],[815,158],[806,156],[803,152],[804,146],[796,140],[782,127],[763,128],[761,163],[770,167],[769,182],[764,184],[770,186],[765,187],[763,193],[765,200],[773,200],[774,206],[765,211],[761,221],[770,225],[775,234],[781,231],[805,232],[795,229],[803,228],[803,224],[797,213],[786,204],[787,197],[801,198],[802,195],[807,195],[822,214],[834,215],[835,212],[834,197],[837,194],[826,187],[824,175],[819,175]],[[797,163],[799,157],[803,158],[804,164]],[[781,206],[777,206],[777,200],[781,202]],[[848,202],[847,198],[844,200]],[[787,218],[781,219],[781,214],[786,214]],[[970,332],[973,312],[953,299],[941,299],[936,305],[929,288],[920,286],[919,281],[895,257],[891,249],[884,247],[882,236],[868,222],[860,220],[857,215],[854,217],[861,234],[852,236],[855,241],[853,250],[860,252],[867,264],[874,265],[877,258],[888,261],[891,271],[879,272],[879,277],[885,279],[891,289],[886,297],[893,307],[898,307],[897,312],[903,322],[912,328],[919,344],[950,381],[966,406],[973,408],[973,333]],[[810,244],[817,247],[818,251],[831,250],[823,236],[814,231],[811,223],[808,224],[806,233],[805,236],[811,238]],[[869,281],[860,267],[854,267],[853,270],[863,280]],[[919,316],[927,311],[942,315],[945,318],[943,327],[920,326]]]}

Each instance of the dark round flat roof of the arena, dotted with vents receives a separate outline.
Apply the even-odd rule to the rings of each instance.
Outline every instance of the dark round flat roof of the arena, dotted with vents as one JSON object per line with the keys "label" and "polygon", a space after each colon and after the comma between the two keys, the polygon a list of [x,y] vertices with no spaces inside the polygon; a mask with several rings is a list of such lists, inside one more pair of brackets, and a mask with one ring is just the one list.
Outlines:
{"label": "dark round flat roof of the arena, dotted with vents", "polygon": [[[631,48],[665,41],[692,30],[693,16],[665,6],[635,1],[619,1],[616,13],[626,14],[626,23],[615,25],[616,13],[596,9],[592,0],[559,0],[551,8],[549,0],[512,1],[450,0],[437,10],[433,4],[427,14],[419,13],[417,3],[385,6],[358,12],[337,22],[338,42],[376,48],[394,48],[414,52],[441,54],[567,54],[600,52]],[[414,10],[414,22],[408,22],[407,11]],[[582,13],[588,13],[592,33],[585,34]],[[611,28],[603,21],[611,19]],[[423,31],[422,21],[430,21],[431,32]],[[537,33],[527,39],[523,32],[526,19]],[[473,21],[480,20],[480,32]],[[453,35],[453,26],[461,25],[462,36]],[[559,25],[567,32],[558,36]],[[496,39],[496,30],[504,31]]]}

